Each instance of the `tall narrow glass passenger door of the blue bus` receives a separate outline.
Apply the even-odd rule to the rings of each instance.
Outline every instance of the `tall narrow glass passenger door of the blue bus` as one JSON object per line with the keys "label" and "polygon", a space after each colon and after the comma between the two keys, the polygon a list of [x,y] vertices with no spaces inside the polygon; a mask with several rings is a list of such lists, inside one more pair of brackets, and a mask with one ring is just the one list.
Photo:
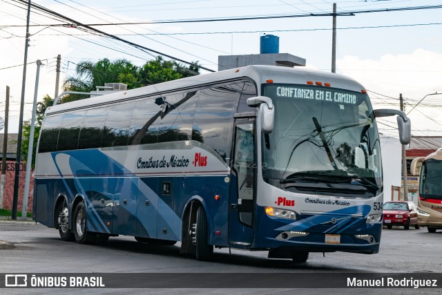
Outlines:
{"label": "tall narrow glass passenger door of the blue bus", "polygon": [[253,238],[256,204],[255,120],[237,120],[233,140],[229,204],[229,243],[247,247]]}

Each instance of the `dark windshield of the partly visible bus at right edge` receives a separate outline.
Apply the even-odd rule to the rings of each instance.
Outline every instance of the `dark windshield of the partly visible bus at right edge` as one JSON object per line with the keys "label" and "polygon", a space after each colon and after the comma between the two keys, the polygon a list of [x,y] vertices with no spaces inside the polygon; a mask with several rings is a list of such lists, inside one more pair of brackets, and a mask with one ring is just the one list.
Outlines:
{"label": "dark windshield of the partly visible bus at right edge", "polygon": [[441,186],[442,160],[426,160],[423,162],[421,172],[421,197],[442,199]]}

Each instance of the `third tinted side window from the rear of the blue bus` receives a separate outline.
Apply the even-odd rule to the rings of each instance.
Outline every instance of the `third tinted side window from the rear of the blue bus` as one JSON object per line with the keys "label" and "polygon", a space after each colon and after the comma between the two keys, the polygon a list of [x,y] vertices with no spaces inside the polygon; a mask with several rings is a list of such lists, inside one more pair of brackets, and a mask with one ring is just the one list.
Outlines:
{"label": "third tinted side window from the rear of the blue bus", "polygon": [[108,107],[86,111],[81,126],[78,149],[96,149],[102,145],[103,126],[107,112]]}

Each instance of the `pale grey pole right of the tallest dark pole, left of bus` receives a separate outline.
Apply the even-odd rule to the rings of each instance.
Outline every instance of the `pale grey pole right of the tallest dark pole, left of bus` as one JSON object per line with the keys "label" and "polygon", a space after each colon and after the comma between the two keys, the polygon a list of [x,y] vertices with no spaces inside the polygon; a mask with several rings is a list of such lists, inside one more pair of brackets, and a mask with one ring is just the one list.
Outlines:
{"label": "pale grey pole right of the tallest dark pole, left of bus", "polygon": [[37,111],[37,93],[39,92],[40,66],[41,66],[41,61],[40,59],[37,59],[37,75],[35,76],[34,104],[32,106],[32,117],[30,120],[28,161],[26,162],[25,191],[23,193],[23,206],[21,207],[22,220],[26,220],[26,213],[28,213],[30,167],[32,165],[32,151],[34,150],[35,112]]}

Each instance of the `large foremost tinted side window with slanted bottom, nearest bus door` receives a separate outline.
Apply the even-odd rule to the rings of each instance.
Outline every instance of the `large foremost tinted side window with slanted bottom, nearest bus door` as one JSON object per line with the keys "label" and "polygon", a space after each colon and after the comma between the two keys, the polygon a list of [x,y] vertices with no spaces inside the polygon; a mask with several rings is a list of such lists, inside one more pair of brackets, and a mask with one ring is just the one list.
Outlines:
{"label": "large foremost tinted side window with slanted bottom, nearest bus door", "polygon": [[229,160],[233,106],[239,98],[238,84],[199,91],[192,140],[202,142]]}

